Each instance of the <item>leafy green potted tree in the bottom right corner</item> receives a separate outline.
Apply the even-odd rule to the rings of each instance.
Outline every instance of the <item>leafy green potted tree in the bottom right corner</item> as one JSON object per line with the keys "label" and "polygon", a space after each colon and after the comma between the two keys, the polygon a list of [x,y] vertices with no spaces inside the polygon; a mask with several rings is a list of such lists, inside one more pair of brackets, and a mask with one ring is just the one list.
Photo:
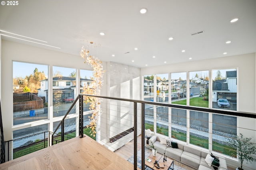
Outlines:
{"label": "leafy green potted tree in the bottom right corner", "polygon": [[240,136],[231,139],[228,138],[228,145],[236,149],[236,154],[230,150],[230,155],[238,158],[241,163],[241,168],[236,168],[237,170],[243,170],[242,166],[245,160],[247,161],[247,164],[256,161],[256,158],[251,156],[252,154],[256,154],[256,145],[255,143],[250,142],[251,139],[251,137],[244,138],[242,133],[240,133]]}

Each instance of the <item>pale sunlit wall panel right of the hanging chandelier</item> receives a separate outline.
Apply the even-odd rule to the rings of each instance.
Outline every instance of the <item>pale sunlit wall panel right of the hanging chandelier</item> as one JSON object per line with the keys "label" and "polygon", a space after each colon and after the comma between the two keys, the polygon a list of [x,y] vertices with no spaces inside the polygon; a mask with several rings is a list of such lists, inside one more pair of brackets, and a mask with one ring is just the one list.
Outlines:
{"label": "pale sunlit wall panel right of the hanging chandelier", "polygon": [[[107,63],[108,96],[127,99],[140,98],[140,68],[125,64]],[[122,106],[122,107],[120,107]],[[133,127],[133,104],[130,102],[112,101],[107,127],[109,137],[113,137]]]}

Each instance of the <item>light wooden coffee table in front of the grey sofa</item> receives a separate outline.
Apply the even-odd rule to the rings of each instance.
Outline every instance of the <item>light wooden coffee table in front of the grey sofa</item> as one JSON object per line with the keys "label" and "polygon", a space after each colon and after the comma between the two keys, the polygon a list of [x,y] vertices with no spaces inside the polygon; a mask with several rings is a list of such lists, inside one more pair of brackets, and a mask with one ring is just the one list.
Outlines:
{"label": "light wooden coffee table in front of the grey sofa", "polygon": [[[173,170],[174,169],[173,160],[170,158],[166,158],[166,160],[164,161],[164,157],[166,156],[160,153],[156,153],[156,156],[153,156],[153,154],[150,154],[145,160],[145,165],[152,170],[169,170],[169,169]],[[151,160],[150,162],[147,161],[148,158]],[[158,161],[158,164],[163,162],[164,168],[157,168],[157,165],[154,165],[155,161]]]}

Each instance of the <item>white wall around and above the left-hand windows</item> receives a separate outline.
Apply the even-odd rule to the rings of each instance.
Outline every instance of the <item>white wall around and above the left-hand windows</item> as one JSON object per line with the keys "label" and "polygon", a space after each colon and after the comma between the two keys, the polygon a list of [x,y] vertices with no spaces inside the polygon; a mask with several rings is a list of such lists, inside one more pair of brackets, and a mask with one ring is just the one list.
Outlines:
{"label": "white wall around and above the left-hand windows", "polygon": [[[87,63],[84,64],[84,59],[78,55],[70,55],[51,51],[29,45],[23,45],[6,40],[2,40],[1,47],[1,105],[2,105],[2,119],[4,128],[4,138],[6,141],[12,139],[12,130],[20,129],[19,125],[13,125],[13,94],[12,94],[12,61],[22,61],[35,64],[46,64],[48,67],[48,74],[52,72],[52,66],[61,66],[68,68],[93,70]],[[82,48],[82,46],[81,46]],[[97,56],[96,56],[97,57]],[[72,60],[72,62],[70,62]],[[106,63],[103,62],[103,68],[106,68]],[[4,74],[3,74],[4,73]],[[51,80],[51,77],[48,76]],[[102,94],[106,94],[106,86],[102,87]],[[48,106],[52,109],[52,100],[49,100]],[[40,125],[50,123],[52,127],[52,120],[43,120],[33,123],[33,125]],[[26,125],[30,127],[31,125]]]}

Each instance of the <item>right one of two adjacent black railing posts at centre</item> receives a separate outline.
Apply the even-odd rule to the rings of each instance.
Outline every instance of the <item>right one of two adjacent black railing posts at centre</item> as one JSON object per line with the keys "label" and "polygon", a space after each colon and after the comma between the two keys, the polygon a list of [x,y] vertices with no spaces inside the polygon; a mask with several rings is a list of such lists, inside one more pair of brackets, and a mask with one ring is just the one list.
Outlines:
{"label": "right one of two adjacent black railing posts at centre", "polygon": [[141,104],[141,169],[145,170],[145,104]]}

